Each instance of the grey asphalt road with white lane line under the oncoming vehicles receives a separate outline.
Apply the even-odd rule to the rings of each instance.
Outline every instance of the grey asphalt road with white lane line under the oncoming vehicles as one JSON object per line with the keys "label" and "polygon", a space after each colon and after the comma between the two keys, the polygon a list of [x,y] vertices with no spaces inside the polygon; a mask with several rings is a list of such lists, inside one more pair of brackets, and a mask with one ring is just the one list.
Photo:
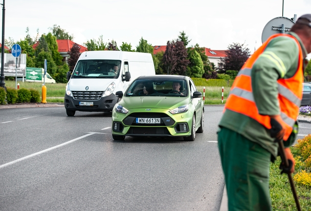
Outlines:
{"label": "grey asphalt road with white lane line under the oncoming vehicles", "polygon": [[114,141],[111,113],[0,109],[0,210],[218,211],[222,109],[205,107],[194,142]]}

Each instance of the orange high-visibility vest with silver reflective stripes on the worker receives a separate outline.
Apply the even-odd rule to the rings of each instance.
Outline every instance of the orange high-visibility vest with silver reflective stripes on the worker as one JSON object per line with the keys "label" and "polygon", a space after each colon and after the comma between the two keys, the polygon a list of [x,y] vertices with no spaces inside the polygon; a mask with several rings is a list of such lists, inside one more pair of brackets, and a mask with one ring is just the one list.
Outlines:
{"label": "orange high-visibility vest with silver reflective stripes on the worker", "polygon": [[[267,115],[260,115],[258,108],[254,101],[251,85],[251,71],[252,66],[258,57],[264,52],[267,44],[275,37],[286,36],[293,39],[299,47],[299,61],[296,73],[289,79],[279,79],[278,84],[278,100],[280,105],[280,112],[283,121],[286,123],[286,132],[283,139],[286,141],[293,129],[299,113],[299,107],[302,99],[302,83],[303,83],[303,53],[301,46],[297,39],[288,34],[274,34],[267,39],[263,45],[254,52],[254,54],[247,59],[242,69],[239,71],[236,79],[230,90],[229,97],[224,106],[225,109],[244,114],[267,129],[271,128],[270,117]],[[256,129],[256,128],[254,128]]]}

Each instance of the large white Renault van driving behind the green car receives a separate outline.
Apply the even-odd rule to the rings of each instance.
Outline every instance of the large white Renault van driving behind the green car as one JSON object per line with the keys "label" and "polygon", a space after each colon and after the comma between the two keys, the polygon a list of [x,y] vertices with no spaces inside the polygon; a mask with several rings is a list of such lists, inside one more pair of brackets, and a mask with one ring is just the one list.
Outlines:
{"label": "large white Renault van driving behind the green car", "polygon": [[130,81],[141,75],[155,75],[150,53],[127,51],[85,51],[66,86],[68,116],[76,111],[111,111],[117,91],[125,91]]}

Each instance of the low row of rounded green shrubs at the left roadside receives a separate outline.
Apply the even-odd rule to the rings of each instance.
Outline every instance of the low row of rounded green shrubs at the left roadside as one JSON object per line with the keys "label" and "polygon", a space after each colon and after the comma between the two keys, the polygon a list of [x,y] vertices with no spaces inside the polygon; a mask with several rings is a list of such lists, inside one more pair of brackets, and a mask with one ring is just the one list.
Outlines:
{"label": "low row of rounded green shrubs at the left roadside", "polygon": [[40,102],[40,93],[38,90],[30,88],[21,88],[16,90],[14,88],[0,87],[0,104],[5,103],[5,98],[8,104],[15,103],[38,103]]}

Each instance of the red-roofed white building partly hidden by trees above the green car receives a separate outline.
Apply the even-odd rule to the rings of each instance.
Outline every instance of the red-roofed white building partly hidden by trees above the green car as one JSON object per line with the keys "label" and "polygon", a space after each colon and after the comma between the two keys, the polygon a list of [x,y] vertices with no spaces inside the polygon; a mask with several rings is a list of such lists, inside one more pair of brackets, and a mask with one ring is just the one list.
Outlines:
{"label": "red-roofed white building partly hidden by trees above the green car", "polygon": [[[154,54],[160,51],[165,52],[166,45],[155,45]],[[210,48],[205,48],[205,55],[208,57],[210,63],[214,63],[216,68],[221,68],[221,58],[226,57],[226,50],[211,50]]]}

